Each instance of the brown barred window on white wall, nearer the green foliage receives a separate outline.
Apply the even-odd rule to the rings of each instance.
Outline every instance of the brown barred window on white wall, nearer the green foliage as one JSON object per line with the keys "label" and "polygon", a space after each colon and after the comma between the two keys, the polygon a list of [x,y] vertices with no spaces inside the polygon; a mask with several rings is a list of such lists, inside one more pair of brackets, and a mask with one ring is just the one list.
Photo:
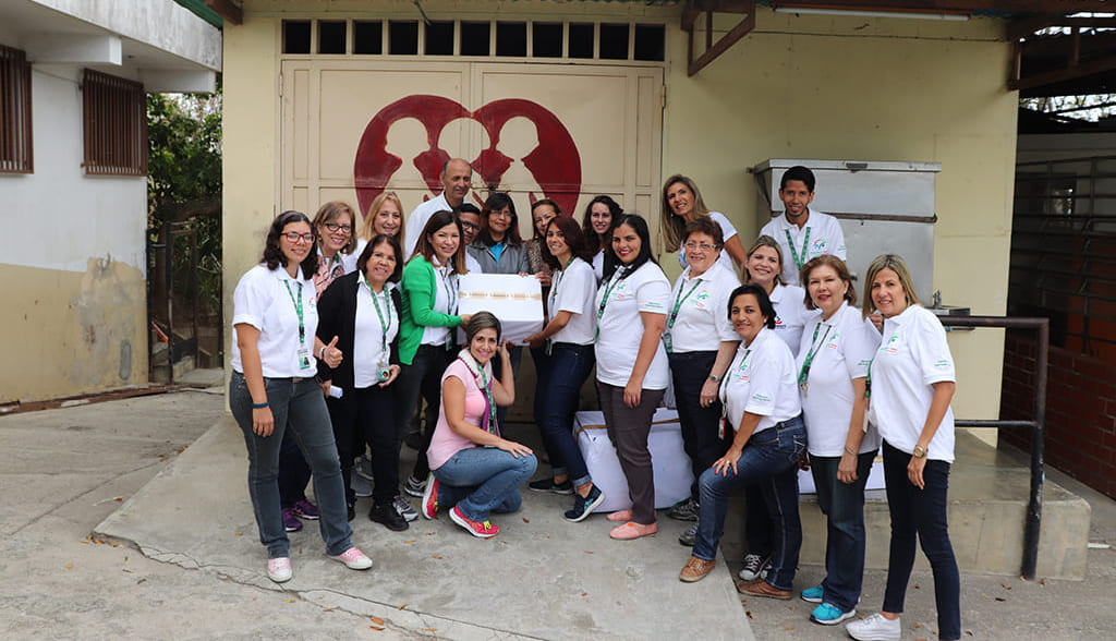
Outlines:
{"label": "brown barred window on white wall, nearer the green foliage", "polygon": [[147,174],[147,102],[143,85],[86,69],[81,78],[85,171]]}

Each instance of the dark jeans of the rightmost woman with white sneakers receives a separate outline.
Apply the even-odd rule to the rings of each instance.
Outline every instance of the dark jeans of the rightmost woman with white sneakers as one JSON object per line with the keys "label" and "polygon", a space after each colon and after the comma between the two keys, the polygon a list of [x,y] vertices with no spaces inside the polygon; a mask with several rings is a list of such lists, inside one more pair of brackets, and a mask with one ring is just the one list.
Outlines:
{"label": "dark jeans of the rightmost woman with white sneakers", "polygon": [[884,480],[887,510],[892,514],[892,546],[887,556],[887,590],[884,612],[903,612],[911,568],[914,566],[915,535],[934,573],[934,603],[937,605],[939,639],[961,638],[961,576],[950,544],[946,520],[950,463],[927,460],[922,471],[926,486],[918,489],[907,478],[911,455],[884,441]]}

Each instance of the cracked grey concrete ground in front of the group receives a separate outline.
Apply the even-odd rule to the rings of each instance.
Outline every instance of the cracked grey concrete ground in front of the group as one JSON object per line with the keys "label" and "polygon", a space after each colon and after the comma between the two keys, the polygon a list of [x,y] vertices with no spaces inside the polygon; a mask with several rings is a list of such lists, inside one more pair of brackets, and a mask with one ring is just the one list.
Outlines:
{"label": "cracked grey concrete ground in front of the group", "polygon": [[[614,543],[600,517],[566,524],[566,498],[536,492],[520,514],[493,519],[503,532],[488,542],[444,516],[389,533],[362,503],[355,539],[376,567],[326,559],[311,524],[291,536],[296,577],[279,589],[263,574],[243,444],[220,391],[0,418],[0,635],[847,638],[810,623],[805,602],[739,599],[723,563],[699,584],[677,582],[683,524],[661,518],[658,536]],[[1116,501],[1048,476],[1089,500],[1090,540],[1116,544]],[[90,538],[95,529],[118,538]],[[822,572],[804,565],[796,587]],[[884,577],[866,572],[864,613],[878,609]],[[932,585],[915,572],[904,639],[934,638]],[[1114,593],[1112,548],[1089,549],[1080,582],[963,573],[962,628],[965,638],[1113,638]]]}

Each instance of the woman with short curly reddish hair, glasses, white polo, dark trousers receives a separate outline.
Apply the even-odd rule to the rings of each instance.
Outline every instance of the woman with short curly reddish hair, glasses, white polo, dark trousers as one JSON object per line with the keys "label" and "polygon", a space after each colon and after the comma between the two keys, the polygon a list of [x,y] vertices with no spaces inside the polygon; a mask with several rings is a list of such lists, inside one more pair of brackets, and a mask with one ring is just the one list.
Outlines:
{"label": "woman with short curly reddish hair, glasses, white polo, dark trousers", "polygon": [[[712,218],[686,223],[682,247],[690,265],[671,291],[663,346],[671,364],[682,443],[694,481],[690,498],[671,507],[666,516],[696,522],[698,479],[728,447],[719,436],[721,401],[716,390],[740,345],[740,336],[724,314],[729,294],[740,286],[740,280],[720,261],[724,241],[721,226]],[[693,545],[696,535],[695,523],[679,537],[679,543]]]}

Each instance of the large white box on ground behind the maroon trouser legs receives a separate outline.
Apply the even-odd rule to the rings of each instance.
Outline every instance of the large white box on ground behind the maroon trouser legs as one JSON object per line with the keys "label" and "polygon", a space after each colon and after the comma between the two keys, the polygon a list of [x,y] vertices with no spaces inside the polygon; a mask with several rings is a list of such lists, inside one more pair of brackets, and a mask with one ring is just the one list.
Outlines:
{"label": "large white box on ground behind the maroon trouser legs", "polygon": [[[593,511],[632,507],[627,479],[605,429],[605,415],[602,412],[578,412],[574,417],[574,436],[594,485],[605,492],[605,503]],[[682,447],[682,425],[676,411],[663,408],[655,411],[647,447],[655,470],[655,508],[667,508],[689,498],[694,477],[690,457]]]}

